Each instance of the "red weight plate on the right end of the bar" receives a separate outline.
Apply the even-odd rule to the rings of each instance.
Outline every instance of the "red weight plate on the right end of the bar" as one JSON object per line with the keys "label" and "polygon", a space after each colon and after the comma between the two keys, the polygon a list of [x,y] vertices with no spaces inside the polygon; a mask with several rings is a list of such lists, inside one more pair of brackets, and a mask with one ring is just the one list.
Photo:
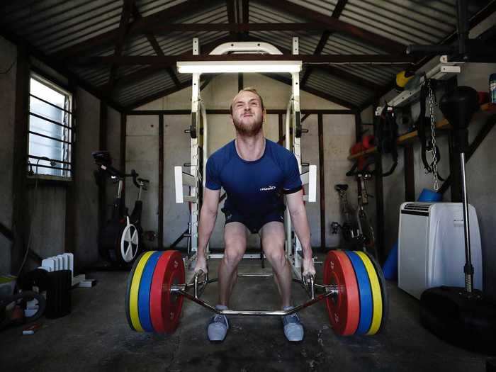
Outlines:
{"label": "red weight plate on the right end of the bar", "polygon": [[342,251],[331,251],[324,264],[324,284],[337,286],[337,295],[326,299],[334,332],[354,334],[360,319],[359,287],[351,261]]}

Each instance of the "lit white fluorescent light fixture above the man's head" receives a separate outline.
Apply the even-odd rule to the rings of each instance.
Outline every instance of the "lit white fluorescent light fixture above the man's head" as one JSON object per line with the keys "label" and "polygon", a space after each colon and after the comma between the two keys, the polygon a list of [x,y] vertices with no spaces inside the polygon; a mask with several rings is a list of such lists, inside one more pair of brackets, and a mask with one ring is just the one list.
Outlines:
{"label": "lit white fluorescent light fixture above the man's head", "polygon": [[301,61],[198,61],[177,62],[181,74],[236,72],[300,72]]}

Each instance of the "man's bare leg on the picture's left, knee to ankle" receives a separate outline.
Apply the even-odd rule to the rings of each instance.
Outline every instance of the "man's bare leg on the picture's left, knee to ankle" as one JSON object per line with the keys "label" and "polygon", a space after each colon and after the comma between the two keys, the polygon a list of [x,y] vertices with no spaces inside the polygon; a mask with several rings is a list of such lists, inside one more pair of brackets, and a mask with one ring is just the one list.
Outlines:
{"label": "man's bare leg on the picture's left, knee to ankle", "polygon": [[224,229],[225,250],[219,266],[219,305],[228,306],[232,288],[237,281],[237,265],[247,249],[247,228],[230,222]]}

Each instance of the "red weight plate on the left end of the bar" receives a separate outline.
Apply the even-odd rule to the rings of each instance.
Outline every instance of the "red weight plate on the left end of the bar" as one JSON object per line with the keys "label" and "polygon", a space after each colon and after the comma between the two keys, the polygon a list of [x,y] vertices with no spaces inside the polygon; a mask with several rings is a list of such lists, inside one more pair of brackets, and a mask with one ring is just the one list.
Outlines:
{"label": "red weight plate on the left end of the bar", "polygon": [[157,261],[150,288],[150,317],[155,332],[171,333],[179,324],[183,296],[171,294],[171,286],[184,284],[184,264],[177,251],[166,251]]}

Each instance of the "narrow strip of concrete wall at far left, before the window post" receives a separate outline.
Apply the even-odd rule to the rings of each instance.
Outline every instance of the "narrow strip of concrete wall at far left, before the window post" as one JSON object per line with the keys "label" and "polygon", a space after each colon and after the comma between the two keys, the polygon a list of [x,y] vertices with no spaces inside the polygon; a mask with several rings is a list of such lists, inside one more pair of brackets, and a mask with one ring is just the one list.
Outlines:
{"label": "narrow strip of concrete wall at far left, before the window post", "polygon": [[[0,70],[6,72],[16,62],[17,50],[14,45],[0,37]],[[16,105],[16,64],[9,72],[0,74],[0,222],[12,226],[12,165],[13,127]],[[10,273],[11,242],[0,234],[0,274]]]}

